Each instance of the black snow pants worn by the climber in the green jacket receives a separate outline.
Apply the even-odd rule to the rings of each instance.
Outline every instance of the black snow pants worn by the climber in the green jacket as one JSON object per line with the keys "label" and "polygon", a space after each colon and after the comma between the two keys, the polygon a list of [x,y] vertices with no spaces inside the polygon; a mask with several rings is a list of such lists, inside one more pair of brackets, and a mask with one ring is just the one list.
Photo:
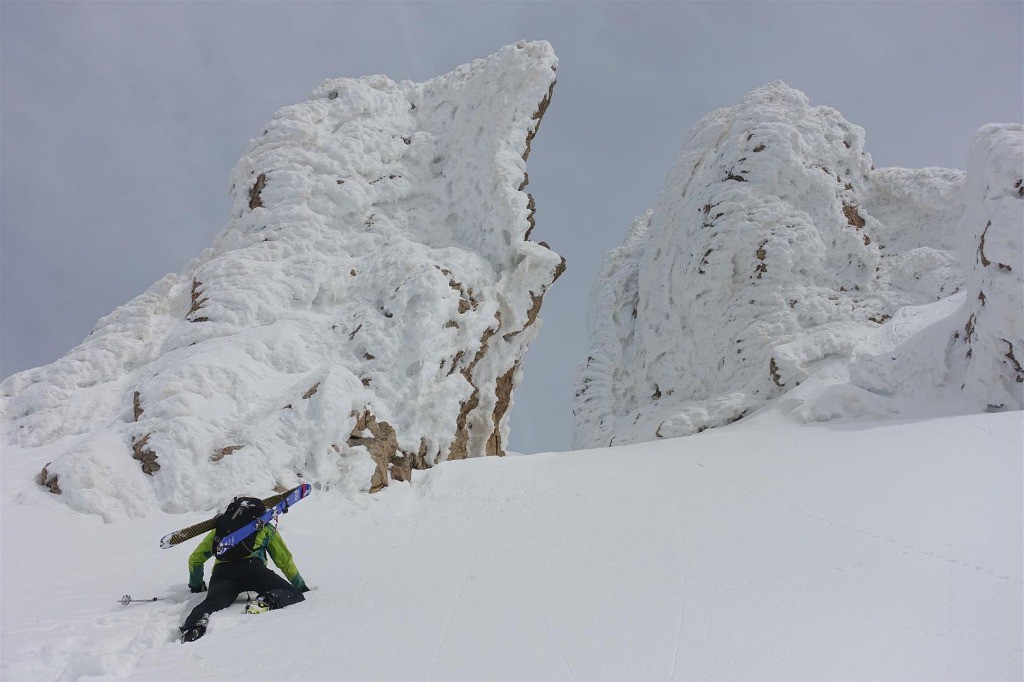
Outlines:
{"label": "black snow pants worn by the climber in the green jacket", "polygon": [[196,608],[193,609],[182,630],[195,625],[206,625],[206,619],[214,611],[227,608],[243,592],[255,592],[263,597],[270,608],[284,608],[305,597],[291,583],[266,567],[256,557],[241,561],[222,561],[213,567],[210,577],[210,591]]}

